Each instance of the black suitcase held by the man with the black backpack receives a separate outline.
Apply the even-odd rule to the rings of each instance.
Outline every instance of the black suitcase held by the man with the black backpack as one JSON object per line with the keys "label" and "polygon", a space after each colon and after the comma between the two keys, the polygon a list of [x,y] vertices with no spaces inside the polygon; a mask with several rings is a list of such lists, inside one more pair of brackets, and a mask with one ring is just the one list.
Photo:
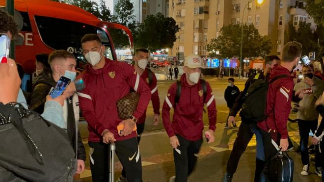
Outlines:
{"label": "black suitcase held by the man with the black backpack", "polygon": [[[273,141],[273,140],[272,140]],[[275,145],[274,145],[274,144]],[[270,159],[269,179],[271,182],[293,182],[294,160],[286,152],[281,152],[275,142],[272,144],[278,149],[275,156]]]}

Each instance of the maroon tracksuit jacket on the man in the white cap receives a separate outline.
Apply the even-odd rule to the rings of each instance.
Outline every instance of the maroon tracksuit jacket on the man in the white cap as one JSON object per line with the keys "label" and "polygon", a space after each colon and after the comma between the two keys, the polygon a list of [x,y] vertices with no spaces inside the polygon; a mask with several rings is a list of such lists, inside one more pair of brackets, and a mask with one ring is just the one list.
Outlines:
{"label": "maroon tracksuit jacket on the man in the white cap", "polygon": [[[165,96],[162,108],[162,119],[165,130],[169,137],[179,134],[189,141],[196,141],[202,138],[203,106],[207,105],[209,129],[216,129],[216,102],[213,91],[208,82],[206,101],[204,103],[203,90],[200,82],[190,86],[186,81],[186,74],[181,76],[181,96],[179,103],[174,103],[177,83],[173,83]],[[173,121],[170,121],[170,109],[176,107],[173,114]]]}

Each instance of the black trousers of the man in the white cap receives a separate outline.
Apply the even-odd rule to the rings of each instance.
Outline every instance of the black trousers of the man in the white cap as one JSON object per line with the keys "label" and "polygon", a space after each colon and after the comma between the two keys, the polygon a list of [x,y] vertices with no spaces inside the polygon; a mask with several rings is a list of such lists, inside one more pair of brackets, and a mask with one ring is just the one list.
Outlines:
{"label": "black trousers of the man in the white cap", "polygon": [[196,166],[197,155],[199,153],[202,139],[189,141],[180,135],[178,137],[180,146],[177,150],[173,149],[173,157],[176,169],[176,182],[187,182],[188,176]]}

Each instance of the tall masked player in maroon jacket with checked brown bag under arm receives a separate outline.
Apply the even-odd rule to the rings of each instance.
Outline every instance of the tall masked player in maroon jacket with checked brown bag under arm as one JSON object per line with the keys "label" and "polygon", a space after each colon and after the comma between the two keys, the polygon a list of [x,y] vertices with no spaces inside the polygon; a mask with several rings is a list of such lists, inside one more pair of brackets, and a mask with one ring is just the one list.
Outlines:
{"label": "tall masked player in maroon jacket with checked brown bag under arm", "polygon": [[[81,45],[88,64],[78,76],[86,85],[78,95],[82,114],[88,123],[92,181],[108,182],[108,144],[113,141],[127,181],[141,182],[141,157],[134,129],[149,104],[151,89],[131,65],[105,57],[106,47],[98,35],[84,35]],[[118,118],[116,102],[128,95],[131,89],[140,95],[139,102],[133,115],[121,120]],[[119,134],[117,126],[121,124],[124,129]]]}

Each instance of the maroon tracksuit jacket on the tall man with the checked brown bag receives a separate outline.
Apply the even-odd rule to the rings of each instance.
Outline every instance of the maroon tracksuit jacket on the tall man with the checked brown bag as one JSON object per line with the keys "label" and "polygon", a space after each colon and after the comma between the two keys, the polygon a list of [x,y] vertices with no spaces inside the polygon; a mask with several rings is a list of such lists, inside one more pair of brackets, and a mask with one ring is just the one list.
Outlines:
{"label": "maroon tracksuit jacket on the tall man with the checked brown bag", "polygon": [[131,88],[140,94],[134,117],[140,118],[147,108],[151,91],[134,68],[106,59],[102,69],[94,70],[87,64],[78,78],[82,78],[85,84],[85,89],[78,95],[82,114],[88,123],[89,141],[101,141],[105,129],[110,130],[117,141],[136,137],[136,131],[128,136],[118,135],[117,126],[121,120],[116,108],[117,100],[129,94]]}

